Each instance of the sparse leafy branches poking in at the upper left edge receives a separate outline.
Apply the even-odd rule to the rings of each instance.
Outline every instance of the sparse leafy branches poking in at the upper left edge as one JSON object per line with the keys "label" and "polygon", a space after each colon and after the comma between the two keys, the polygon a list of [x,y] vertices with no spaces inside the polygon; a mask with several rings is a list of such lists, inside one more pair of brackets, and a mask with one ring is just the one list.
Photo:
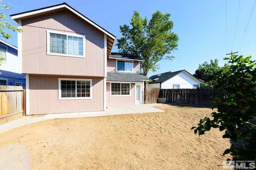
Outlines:
{"label": "sparse leafy branches poking in at the upper left edge", "polygon": [[[2,0],[0,0],[0,2],[2,3]],[[10,8],[8,8],[8,6],[0,4],[0,7],[2,10],[7,10],[10,11]],[[9,33],[7,33],[6,31],[4,31],[5,29],[10,29],[13,31],[18,31],[19,33],[21,33],[23,30],[16,27],[15,25],[10,24],[10,22],[7,22],[8,18],[2,13],[0,12],[0,37],[4,37],[6,39],[9,39],[12,37],[12,35],[10,35]],[[4,58],[0,58],[0,66],[2,64],[2,62],[4,61]]]}

